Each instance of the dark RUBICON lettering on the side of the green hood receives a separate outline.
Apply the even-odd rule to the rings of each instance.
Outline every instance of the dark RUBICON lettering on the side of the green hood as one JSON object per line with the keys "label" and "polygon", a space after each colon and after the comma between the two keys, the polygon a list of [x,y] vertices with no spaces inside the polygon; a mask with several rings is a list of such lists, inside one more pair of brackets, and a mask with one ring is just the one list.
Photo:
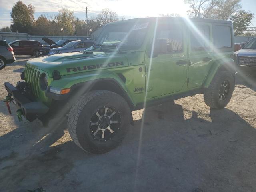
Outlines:
{"label": "dark RUBICON lettering on the side of the green hood", "polygon": [[92,70],[92,69],[100,69],[100,68],[106,68],[106,67],[114,67],[114,66],[120,66],[124,65],[124,62],[111,62],[107,64],[96,64],[96,65],[87,65],[87,66],[79,66],[79,67],[71,67],[66,68],[67,72],[77,72],[77,71],[85,71],[85,70]]}

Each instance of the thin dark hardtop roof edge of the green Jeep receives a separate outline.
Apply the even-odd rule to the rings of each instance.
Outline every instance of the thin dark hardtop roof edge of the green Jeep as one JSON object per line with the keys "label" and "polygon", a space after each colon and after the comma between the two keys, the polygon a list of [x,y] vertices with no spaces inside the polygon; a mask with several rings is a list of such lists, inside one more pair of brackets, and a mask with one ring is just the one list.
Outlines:
{"label": "thin dark hardtop roof edge of the green Jeep", "polygon": [[135,19],[127,19],[122,21],[111,22],[107,25],[118,24],[118,23],[126,23],[126,22],[136,22],[140,20],[142,22],[154,22],[158,18],[158,21],[178,21],[178,20],[190,20],[191,22],[207,22],[207,23],[222,23],[222,24],[232,24],[231,21],[227,20],[218,20],[218,19],[205,19],[205,18],[185,18],[185,17],[146,17],[146,18],[135,18]]}

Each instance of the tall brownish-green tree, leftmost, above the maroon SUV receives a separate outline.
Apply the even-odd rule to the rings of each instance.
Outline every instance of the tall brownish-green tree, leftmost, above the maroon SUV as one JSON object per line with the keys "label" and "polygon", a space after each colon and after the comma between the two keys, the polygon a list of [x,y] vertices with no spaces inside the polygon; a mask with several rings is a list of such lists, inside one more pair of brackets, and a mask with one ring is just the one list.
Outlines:
{"label": "tall brownish-green tree, leftmost, above the maroon SUV", "polygon": [[34,22],[35,7],[31,4],[24,4],[22,1],[17,1],[12,7],[11,28],[13,32],[32,32],[32,26]]}

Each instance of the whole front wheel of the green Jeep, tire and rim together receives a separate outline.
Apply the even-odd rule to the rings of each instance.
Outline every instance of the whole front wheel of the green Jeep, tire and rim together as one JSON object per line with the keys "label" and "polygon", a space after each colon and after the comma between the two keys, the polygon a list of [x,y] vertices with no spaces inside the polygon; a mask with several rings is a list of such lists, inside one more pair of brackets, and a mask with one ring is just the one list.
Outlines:
{"label": "whole front wheel of the green Jeep, tire and rim together", "polygon": [[77,146],[100,154],[120,144],[130,126],[130,108],[120,95],[94,90],[82,96],[68,114],[68,131]]}

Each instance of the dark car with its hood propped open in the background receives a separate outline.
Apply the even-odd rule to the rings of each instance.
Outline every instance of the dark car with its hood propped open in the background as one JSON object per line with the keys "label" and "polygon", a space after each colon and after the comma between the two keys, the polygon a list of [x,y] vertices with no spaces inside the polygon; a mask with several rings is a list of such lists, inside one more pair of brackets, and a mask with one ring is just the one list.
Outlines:
{"label": "dark car with its hood propped open in the background", "polygon": [[74,40],[62,39],[62,40],[58,40],[57,42],[54,42],[53,40],[45,37],[42,38],[42,40],[48,44],[40,48],[39,51],[40,51],[40,54],[42,53],[42,55],[48,55],[50,49],[56,48],[56,47],[63,47],[67,43],[74,41]]}

